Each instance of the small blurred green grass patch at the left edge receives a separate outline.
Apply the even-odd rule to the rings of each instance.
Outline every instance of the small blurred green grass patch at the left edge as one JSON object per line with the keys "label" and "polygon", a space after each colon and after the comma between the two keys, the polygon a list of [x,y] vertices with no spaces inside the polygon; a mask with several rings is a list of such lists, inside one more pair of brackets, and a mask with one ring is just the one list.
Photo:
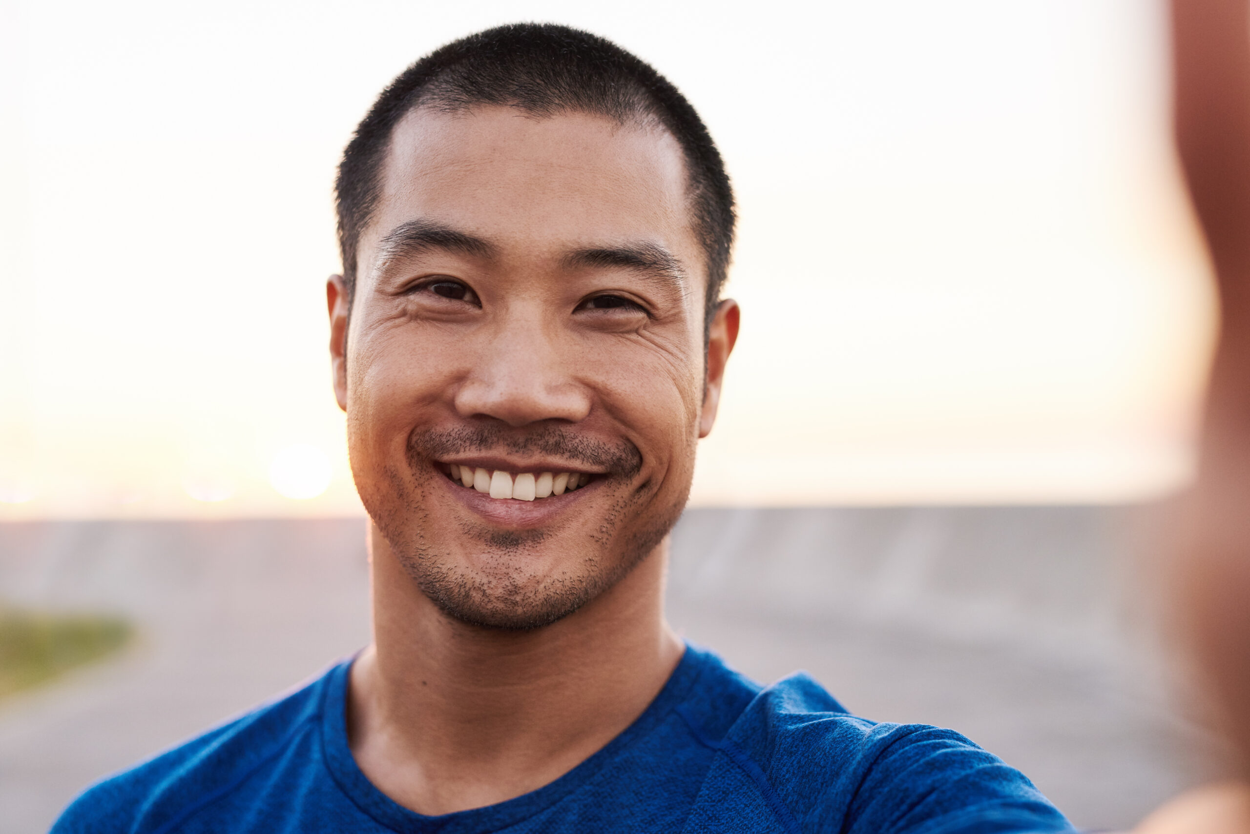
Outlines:
{"label": "small blurred green grass patch at the left edge", "polygon": [[118,617],[0,609],[0,698],[106,657],[131,634]]}

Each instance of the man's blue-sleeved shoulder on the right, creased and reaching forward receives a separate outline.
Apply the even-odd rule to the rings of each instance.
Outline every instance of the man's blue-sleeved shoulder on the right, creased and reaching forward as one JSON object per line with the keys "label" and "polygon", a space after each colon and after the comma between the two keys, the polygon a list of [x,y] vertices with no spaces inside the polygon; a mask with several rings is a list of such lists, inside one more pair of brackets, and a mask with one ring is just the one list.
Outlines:
{"label": "man's blue-sleeved shoulder on the right, creased and reaching forward", "polygon": [[760,690],[716,745],[781,830],[1071,830],[1024,774],[959,733],[858,718],[802,673]]}

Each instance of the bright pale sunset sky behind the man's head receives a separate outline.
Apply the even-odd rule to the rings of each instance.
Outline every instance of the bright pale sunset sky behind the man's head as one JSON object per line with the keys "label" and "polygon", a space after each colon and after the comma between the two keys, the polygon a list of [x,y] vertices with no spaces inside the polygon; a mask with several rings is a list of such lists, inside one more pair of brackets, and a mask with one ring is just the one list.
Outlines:
{"label": "bright pale sunset sky behind the man's head", "polygon": [[1116,502],[1189,474],[1212,300],[1155,2],[0,14],[0,519],[360,512],[334,166],[405,65],[512,20],[651,61],[725,154],[742,336],[698,503]]}

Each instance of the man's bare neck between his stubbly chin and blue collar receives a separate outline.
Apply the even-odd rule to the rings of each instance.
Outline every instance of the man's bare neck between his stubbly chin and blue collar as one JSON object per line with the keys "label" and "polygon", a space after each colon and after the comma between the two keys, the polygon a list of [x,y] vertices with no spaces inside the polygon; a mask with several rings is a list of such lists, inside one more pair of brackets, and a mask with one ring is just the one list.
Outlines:
{"label": "man's bare neck between his stubbly chin and blue collar", "polygon": [[568,773],[636,719],[682,644],[664,621],[668,539],[564,619],[525,632],[446,617],[370,529],[374,644],[355,662],[352,754],[421,814],[480,808]]}

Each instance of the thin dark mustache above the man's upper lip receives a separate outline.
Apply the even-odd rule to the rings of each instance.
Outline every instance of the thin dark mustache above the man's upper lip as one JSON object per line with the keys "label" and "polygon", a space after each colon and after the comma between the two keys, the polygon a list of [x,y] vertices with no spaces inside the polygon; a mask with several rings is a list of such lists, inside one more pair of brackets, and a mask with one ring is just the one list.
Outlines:
{"label": "thin dark mustache above the man's upper lip", "polygon": [[408,437],[408,457],[442,458],[465,452],[544,454],[609,474],[631,478],[642,471],[642,453],[628,439],[605,443],[565,426],[516,429],[509,426],[458,426],[414,431]]}

